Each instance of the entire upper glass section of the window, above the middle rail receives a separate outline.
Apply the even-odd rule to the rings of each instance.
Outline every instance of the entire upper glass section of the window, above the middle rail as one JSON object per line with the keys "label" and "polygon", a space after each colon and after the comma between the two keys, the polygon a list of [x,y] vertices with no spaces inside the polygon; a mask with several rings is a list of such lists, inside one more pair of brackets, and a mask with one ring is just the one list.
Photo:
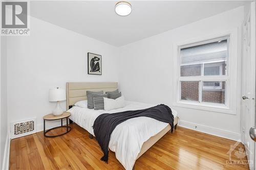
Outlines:
{"label": "entire upper glass section of the window, above the middle rail", "polygon": [[181,77],[226,75],[226,61],[228,58],[227,39],[181,48]]}

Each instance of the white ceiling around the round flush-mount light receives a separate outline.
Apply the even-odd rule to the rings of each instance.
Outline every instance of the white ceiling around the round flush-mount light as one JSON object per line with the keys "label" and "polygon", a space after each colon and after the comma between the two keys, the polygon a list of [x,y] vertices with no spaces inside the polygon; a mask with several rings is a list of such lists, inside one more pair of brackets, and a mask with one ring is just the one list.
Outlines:
{"label": "white ceiling around the round flush-mount light", "polygon": [[242,6],[246,1],[129,1],[118,16],[117,1],[31,1],[31,15],[88,37],[122,46]]}

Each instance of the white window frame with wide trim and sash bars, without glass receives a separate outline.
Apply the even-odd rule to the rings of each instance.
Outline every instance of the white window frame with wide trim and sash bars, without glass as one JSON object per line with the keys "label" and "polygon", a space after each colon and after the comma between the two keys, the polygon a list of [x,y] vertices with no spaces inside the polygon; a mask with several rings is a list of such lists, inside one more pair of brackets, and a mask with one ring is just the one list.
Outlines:
{"label": "white window frame with wide trim and sash bars, without glass", "polygon": [[[201,45],[205,43],[215,42],[221,38],[226,39],[229,37],[228,43],[228,59],[227,59],[227,70],[225,76],[198,76],[198,77],[180,77],[180,48]],[[208,37],[201,37],[198,39],[181,42],[174,44],[174,91],[173,93],[176,96],[176,102],[173,104],[177,107],[183,108],[191,108],[198,110],[206,110],[218,113],[227,113],[227,114],[236,114],[237,108],[237,67],[238,67],[238,30],[230,30],[228,32],[222,34],[216,34]],[[217,61],[216,61],[217,62]],[[196,64],[196,63],[195,63]],[[202,75],[202,74],[201,74]],[[180,94],[180,85],[181,81],[225,81],[226,82],[226,90],[225,90],[225,105],[218,103],[208,103],[208,102],[190,102],[190,101],[181,101]],[[230,82],[232,82],[232,86],[230,86]],[[202,88],[202,84],[200,86]],[[201,92],[199,91],[199,98],[201,98]],[[202,101],[202,99],[200,99]]]}

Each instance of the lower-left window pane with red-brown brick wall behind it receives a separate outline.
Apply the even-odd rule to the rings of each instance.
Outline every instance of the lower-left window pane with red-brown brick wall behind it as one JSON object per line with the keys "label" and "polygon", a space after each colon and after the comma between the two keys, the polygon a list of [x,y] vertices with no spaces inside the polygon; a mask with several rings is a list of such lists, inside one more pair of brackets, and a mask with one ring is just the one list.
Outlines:
{"label": "lower-left window pane with red-brown brick wall behind it", "polygon": [[181,100],[199,102],[199,82],[181,82]]}

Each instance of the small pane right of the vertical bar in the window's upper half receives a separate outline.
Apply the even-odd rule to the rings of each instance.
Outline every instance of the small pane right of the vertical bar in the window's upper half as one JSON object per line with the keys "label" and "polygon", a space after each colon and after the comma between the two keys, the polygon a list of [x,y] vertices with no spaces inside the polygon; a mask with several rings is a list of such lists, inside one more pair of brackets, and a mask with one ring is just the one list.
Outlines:
{"label": "small pane right of the vertical bar in the window's upper half", "polygon": [[226,75],[226,62],[205,63],[204,76]]}

